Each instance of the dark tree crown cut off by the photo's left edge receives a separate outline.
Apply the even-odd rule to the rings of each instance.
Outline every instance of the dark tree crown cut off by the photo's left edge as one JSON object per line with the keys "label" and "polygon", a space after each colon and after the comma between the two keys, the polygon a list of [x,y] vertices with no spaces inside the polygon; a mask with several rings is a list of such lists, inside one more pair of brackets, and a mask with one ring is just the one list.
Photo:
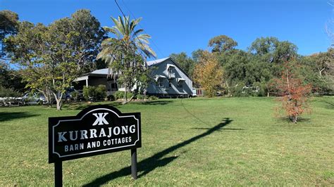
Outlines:
{"label": "dark tree crown cut off by the photo's left edge", "polygon": [[12,11],[0,11],[0,58],[5,55],[3,39],[8,35],[16,34],[18,30],[18,14]]}

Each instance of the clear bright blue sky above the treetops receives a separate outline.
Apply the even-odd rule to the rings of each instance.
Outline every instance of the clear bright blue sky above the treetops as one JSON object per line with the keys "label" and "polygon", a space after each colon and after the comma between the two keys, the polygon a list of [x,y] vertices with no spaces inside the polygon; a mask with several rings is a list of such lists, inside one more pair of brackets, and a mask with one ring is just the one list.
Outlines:
{"label": "clear bright blue sky above the treetops", "polygon": [[[118,4],[126,15],[143,18],[140,27],[151,35],[158,58],[207,49],[209,39],[220,34],[235,39],[237,49],[243,50],[257,37],[270,36],[296,44],[302,55],[330,46],[325,25],[333,18],[333,7],[328,0],[118,0]],[[102,26],[112,26],[110,17],[120,15],[113,0],[0,0],[0,10],[45,25],[81,8],[92,11]]]}

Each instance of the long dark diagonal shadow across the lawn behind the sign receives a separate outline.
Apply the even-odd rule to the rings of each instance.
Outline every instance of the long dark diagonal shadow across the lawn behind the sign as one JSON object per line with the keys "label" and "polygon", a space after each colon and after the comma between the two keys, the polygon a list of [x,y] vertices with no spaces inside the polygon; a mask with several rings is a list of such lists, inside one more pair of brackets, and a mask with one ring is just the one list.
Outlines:
{"label": "long dark diagonal shadow across the lawn behind the sign", "polygon": [[[216,126],[212,128],[208,128],[204,133],[194,136],[192,138],[189,138],[186,141],[183,141],[182,143],[178,143],[174,146],[166,148],[165,150],[161,150],[159,153],[156,153],[155,155],[152,155],[151,157],[148,157],[138,162],[137,164],[138,172],[142,172],[142,174],[140,174],[138,177],[144,176],[158,167],[164,167],[177,158],[177,157],[164,157],[163,158],[163,156],[168,155],[168,153],[178,150],[178,148],[182,148],[183,146],[187,146],[188,144],[194,141],[197,141],[200,138],[209,136],[214,131],[218,131],[222,129],[226,125],[230,124],[230,122],[232,121],[233,120],[230,120],[229,117],[226,117],[223,119],[223,122],[217,124]],[[101,186],[118,177],[130,175],[131,174],[130,171],[131,171],[130,167],[124,167],[123,169],[120,169],[116,172],[111,172],[110,174],[101,176],[98,179],[95,179],[94,181],[85,184],[85,186]]]}

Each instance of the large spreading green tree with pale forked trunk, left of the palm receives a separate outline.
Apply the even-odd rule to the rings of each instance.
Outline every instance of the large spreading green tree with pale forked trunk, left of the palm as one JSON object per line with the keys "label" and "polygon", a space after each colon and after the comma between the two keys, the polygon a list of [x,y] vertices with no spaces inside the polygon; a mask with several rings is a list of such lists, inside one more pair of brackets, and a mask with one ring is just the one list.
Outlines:
{"label": "large spreading green tree with pale forked trunk, left of the palm", "polygon": [[63,94],[97,55],[104,31],[89,11],[56,20],[49,26],[20,22],[18,34],[5,39],[13,63],[22,68],[27,87],[40,91],[61,110]]}

